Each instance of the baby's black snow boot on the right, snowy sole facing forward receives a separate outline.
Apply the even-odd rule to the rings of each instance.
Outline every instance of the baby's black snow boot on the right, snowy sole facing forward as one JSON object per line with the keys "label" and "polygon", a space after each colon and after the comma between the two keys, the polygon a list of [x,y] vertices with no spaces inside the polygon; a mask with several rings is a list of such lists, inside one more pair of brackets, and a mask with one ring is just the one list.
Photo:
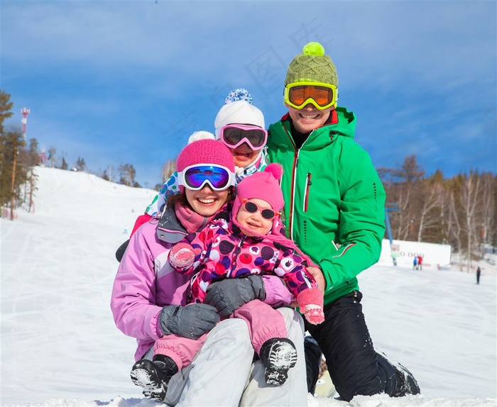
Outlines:
{"label": "baby's black snow boot on the right, snowy sole facing forward", "polygon": [[288,369],[297,363],[297,350],[287,338],[272,338],[261,346],[260,357],[266,366],[264,376],[267,384],[281,386],[288,379]]}

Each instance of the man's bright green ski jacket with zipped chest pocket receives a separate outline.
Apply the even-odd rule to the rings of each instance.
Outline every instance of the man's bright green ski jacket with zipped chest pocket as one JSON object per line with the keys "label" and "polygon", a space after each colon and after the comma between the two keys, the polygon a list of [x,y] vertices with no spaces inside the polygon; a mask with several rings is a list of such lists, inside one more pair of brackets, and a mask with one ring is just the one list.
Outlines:
{"label": "man's bright green ski jacket with zipped chest pocket", "polygon": [[283,165],[287,234],[321,267],[325,305],[359,289],[356,276],[378,262],[385,234],[385,189],[354,141],[355,126],[354,113],[338,107],[299,150],[288,113],[269,126],[269,158]]}

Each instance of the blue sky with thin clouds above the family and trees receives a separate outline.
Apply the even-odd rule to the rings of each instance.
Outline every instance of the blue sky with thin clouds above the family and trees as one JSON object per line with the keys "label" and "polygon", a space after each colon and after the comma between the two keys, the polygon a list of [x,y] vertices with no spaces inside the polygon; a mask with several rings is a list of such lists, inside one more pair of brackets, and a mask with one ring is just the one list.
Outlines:
{"label": "blue sky with thin clouds above the family and trees", "polygon": [[28,138],[142,186],[244,87],[266,127],[319,41],[376,167],[497,171],[496,1],[1,1],[1,84]]}

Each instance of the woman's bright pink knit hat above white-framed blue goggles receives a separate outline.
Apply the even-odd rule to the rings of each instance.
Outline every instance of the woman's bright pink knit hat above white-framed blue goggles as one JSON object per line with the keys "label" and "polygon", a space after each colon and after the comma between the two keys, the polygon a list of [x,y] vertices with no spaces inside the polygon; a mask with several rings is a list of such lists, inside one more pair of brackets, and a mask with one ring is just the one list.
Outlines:
{"label": "woman's bright pink knit hat above white-framed blue goggles", "polygon": [[219,140],[207,138],[187,145],[178,155],[176,171],[181,172],[186,167],[197,164],[222,165],[229,171],[235,172],[233,155],[231,155],[228,147]]}

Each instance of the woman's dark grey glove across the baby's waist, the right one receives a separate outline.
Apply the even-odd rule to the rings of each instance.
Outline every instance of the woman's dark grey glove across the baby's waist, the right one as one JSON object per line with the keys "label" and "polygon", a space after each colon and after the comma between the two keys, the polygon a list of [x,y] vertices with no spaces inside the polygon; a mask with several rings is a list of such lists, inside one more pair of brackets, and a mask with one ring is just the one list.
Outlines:
{"label": "woman's dark grey glove across the baby's waist, the right one", "polygon": [[204,303],[215,306],[219,316],[226,318],[245,303],[255,299],[266,299],[264,281],[258,275],[212,283],[207,288]]}

